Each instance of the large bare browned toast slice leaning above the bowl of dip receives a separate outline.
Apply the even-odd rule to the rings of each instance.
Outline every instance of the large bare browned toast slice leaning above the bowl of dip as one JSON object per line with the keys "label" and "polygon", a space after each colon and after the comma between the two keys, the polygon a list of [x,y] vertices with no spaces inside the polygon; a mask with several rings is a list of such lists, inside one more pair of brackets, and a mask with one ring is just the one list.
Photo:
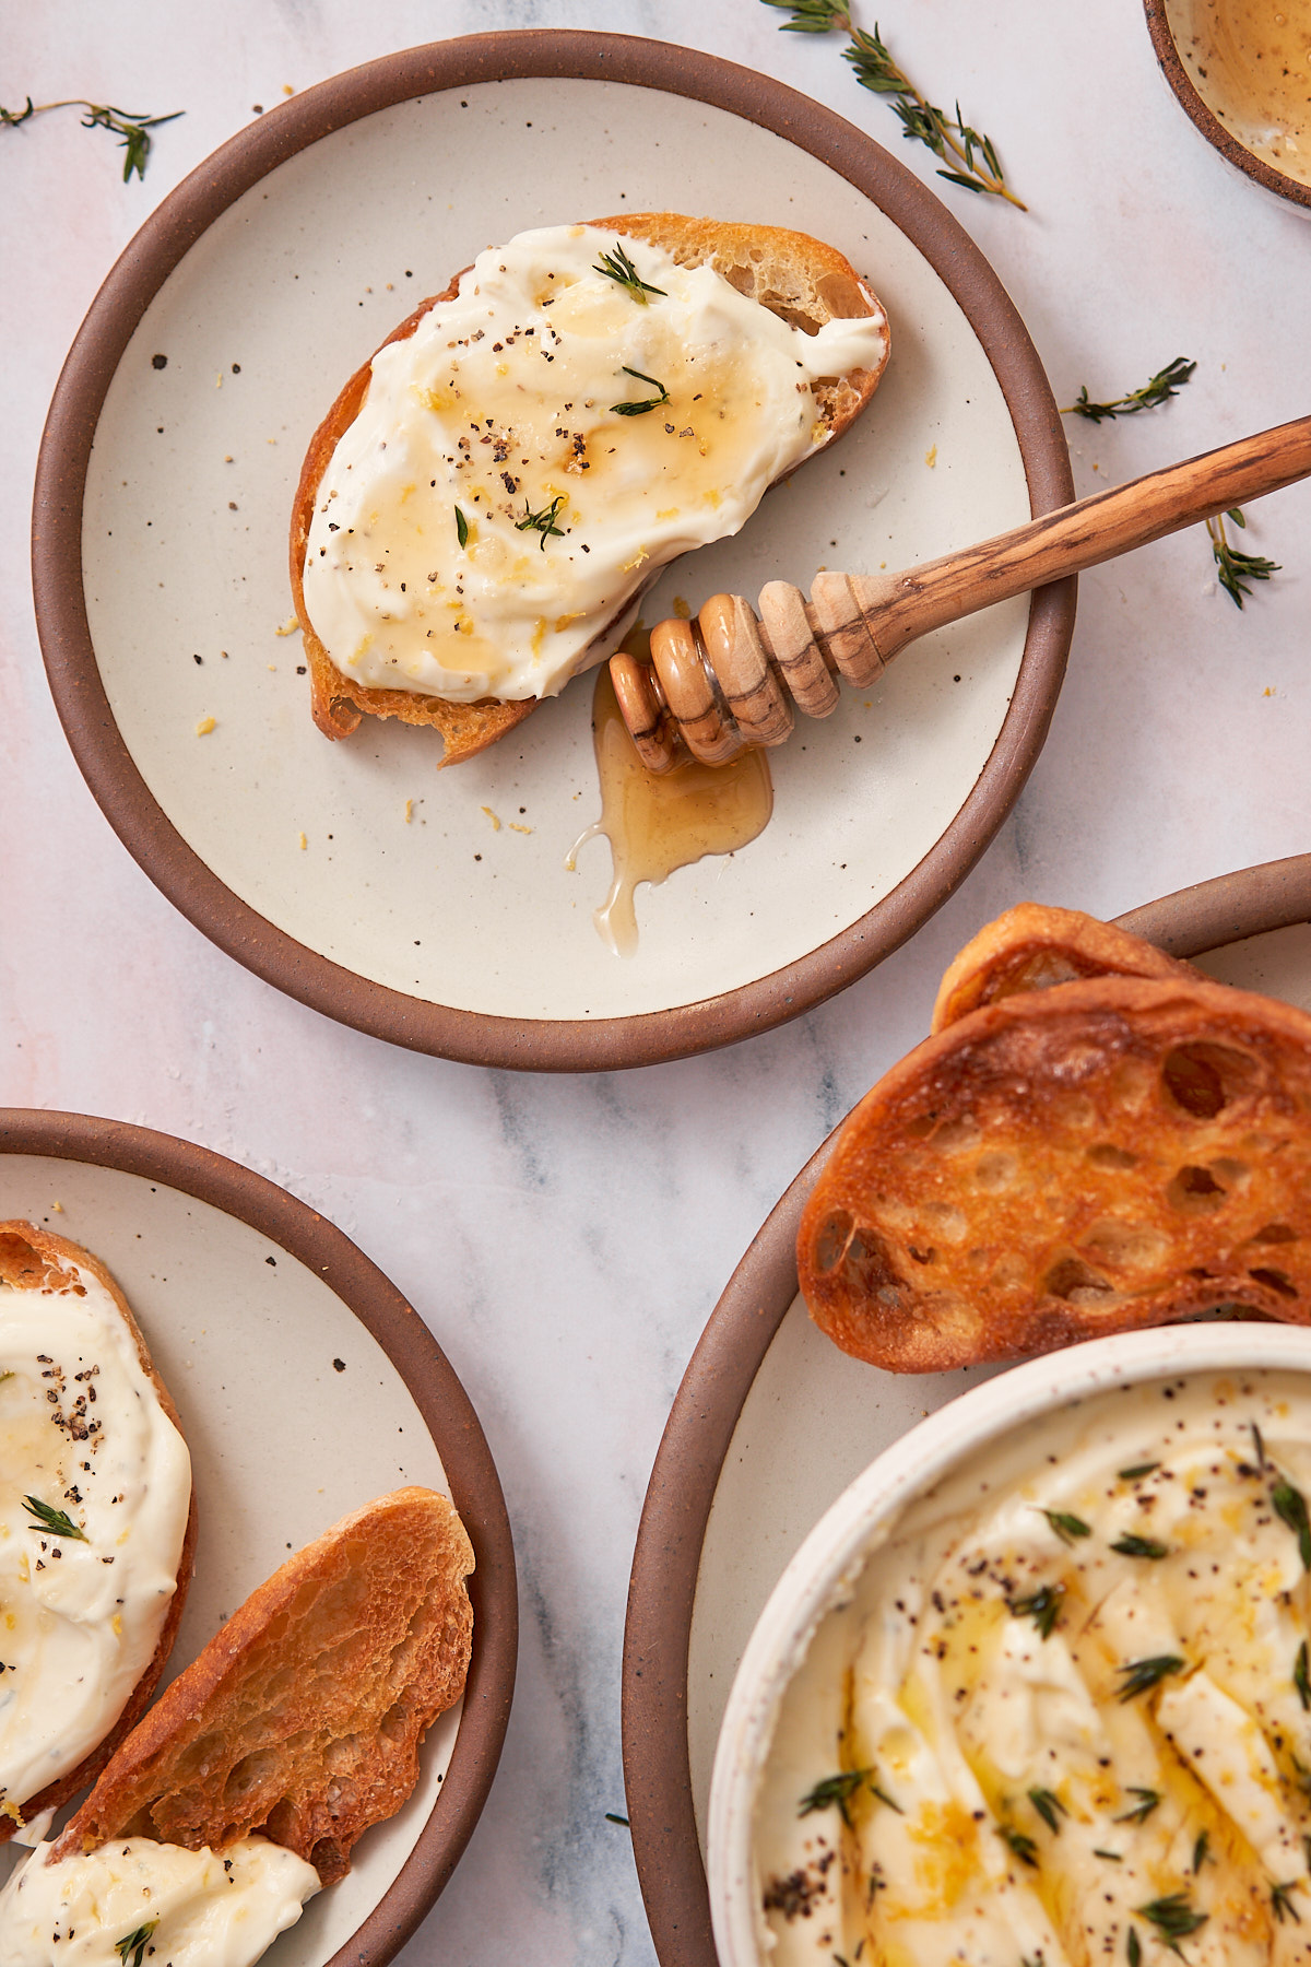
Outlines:
{"label": "large bare browned toast slice leaning above the bowl of dip", "polygon": [[798,1275],[829,1338],[902,1373],[1221,1304],[1311,1322],[1311,1017],[1107,976],[957,1019],[843,1125]]}

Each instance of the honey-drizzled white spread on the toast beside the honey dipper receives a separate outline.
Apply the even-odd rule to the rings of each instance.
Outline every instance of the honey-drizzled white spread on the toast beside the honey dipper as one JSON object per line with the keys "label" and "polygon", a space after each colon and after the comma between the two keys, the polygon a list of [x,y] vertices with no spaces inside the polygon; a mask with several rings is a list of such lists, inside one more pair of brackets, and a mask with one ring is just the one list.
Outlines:
{"label": "honey-drizzled white spread on the toast beside the honey dipper", "polygon": [[806,334],[641,240],[521,232],[373,356],[309,531],[314,633],[371,688],[554,696],[827,443],[812,384],[884,352],[881,311]]}

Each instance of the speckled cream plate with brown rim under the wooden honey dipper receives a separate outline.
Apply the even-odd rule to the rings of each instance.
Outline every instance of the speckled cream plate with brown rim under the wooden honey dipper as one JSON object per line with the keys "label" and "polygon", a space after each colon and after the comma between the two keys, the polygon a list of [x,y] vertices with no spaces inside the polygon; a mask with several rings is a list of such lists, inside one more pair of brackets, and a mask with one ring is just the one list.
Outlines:
{"label": "speckled cream plate with brown rim under the wooden honey dipper", "polygon": [[[997,275],[829,110],[658,41],[507,33],[391,55],[285,102],[147,220],[51,405],[33,515],[41,647],[124,844],[238,962],[362,1031],[501,1066],[609,1068],[770,1029],[955,887],[1048,728],[1073,582],[928,637],[774,753],[774,818],[592,923],[590,686],[438,773],[432,732],[309,720],[285,533],[338,386],[478,250],[527,226],[713,205],[796,226],[892,319],[861,423],[735,541],[668,572],[700,606],[820,565],[932,559],[1071,496],[1059,417]],[[212,720],[212,724],[210,724]]]}

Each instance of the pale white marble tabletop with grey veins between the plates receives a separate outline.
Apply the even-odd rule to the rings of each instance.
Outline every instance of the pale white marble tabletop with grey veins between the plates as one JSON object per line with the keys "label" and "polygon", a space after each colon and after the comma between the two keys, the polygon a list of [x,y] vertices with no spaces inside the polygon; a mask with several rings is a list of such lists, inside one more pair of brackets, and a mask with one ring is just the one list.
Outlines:
{"label": "pale white marble tabletop with grey veins between the plates", "polygon": [[[863,18],[873,26],[869,6]],[[959,94],[1030,201],[1024,214],[941,187],[1057,401],[1197,358],[1166,409],[1071,423],[1079,490],[1309,407],[1311,230],[1205,148],[1136,0],[1103,0],[1095,31],[1044,0],[902,0],[879,20],[922,87]],[[629,1839],[605,1812],[623,1810],[629,1556],[702,1324],[802,1161],[922,1037],[941,966],[979,923],[1020,897],[1114,915],[1311,846],[1311,492],[1250,511],[1246,545],[1283,572],[1242,614],[1199,529],[1083,578],[1052,734],[997,842],[908,948],[788,1029],[631,1074],[525,1078],[417,1058],[301,1009],[173,913],[67,751],[28,586],[41,421],[118,252],[256,102],[389,49],[523,26],[627,30],[763,69],[934,181],[835,41],[780,35],[759,0],[6,0],[6,106],[85,92],[187,114],[132,185],[112,142],[71,112],[0,130],[0,1100],[142,1121],[259,1168],[356,1237],[430,1322],[505,1483],[523,1646],[491,1800],[401,1959],[651,1967]]]}

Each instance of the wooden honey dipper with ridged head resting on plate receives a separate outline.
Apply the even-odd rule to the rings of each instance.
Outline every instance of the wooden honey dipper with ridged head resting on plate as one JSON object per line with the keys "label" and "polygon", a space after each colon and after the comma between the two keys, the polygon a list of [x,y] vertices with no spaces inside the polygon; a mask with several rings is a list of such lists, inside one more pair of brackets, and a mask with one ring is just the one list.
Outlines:
{"label": "wooden honey dipper with ridged head resting on plate", "polygon": [[712,594],[694,622],[653,627],[649,663],[609,659],[623,722],[649,771],[678,763],[680,738],[706,765],[727,765],[747,745],[782,744],[792,704],[829,716],[835,675],[867,690],[898,649],[947,622],[1307,476],[1311,417],[1297,417],[900,574],[824,572],[810,602],[770,580],[759,620],[741,594]]}

